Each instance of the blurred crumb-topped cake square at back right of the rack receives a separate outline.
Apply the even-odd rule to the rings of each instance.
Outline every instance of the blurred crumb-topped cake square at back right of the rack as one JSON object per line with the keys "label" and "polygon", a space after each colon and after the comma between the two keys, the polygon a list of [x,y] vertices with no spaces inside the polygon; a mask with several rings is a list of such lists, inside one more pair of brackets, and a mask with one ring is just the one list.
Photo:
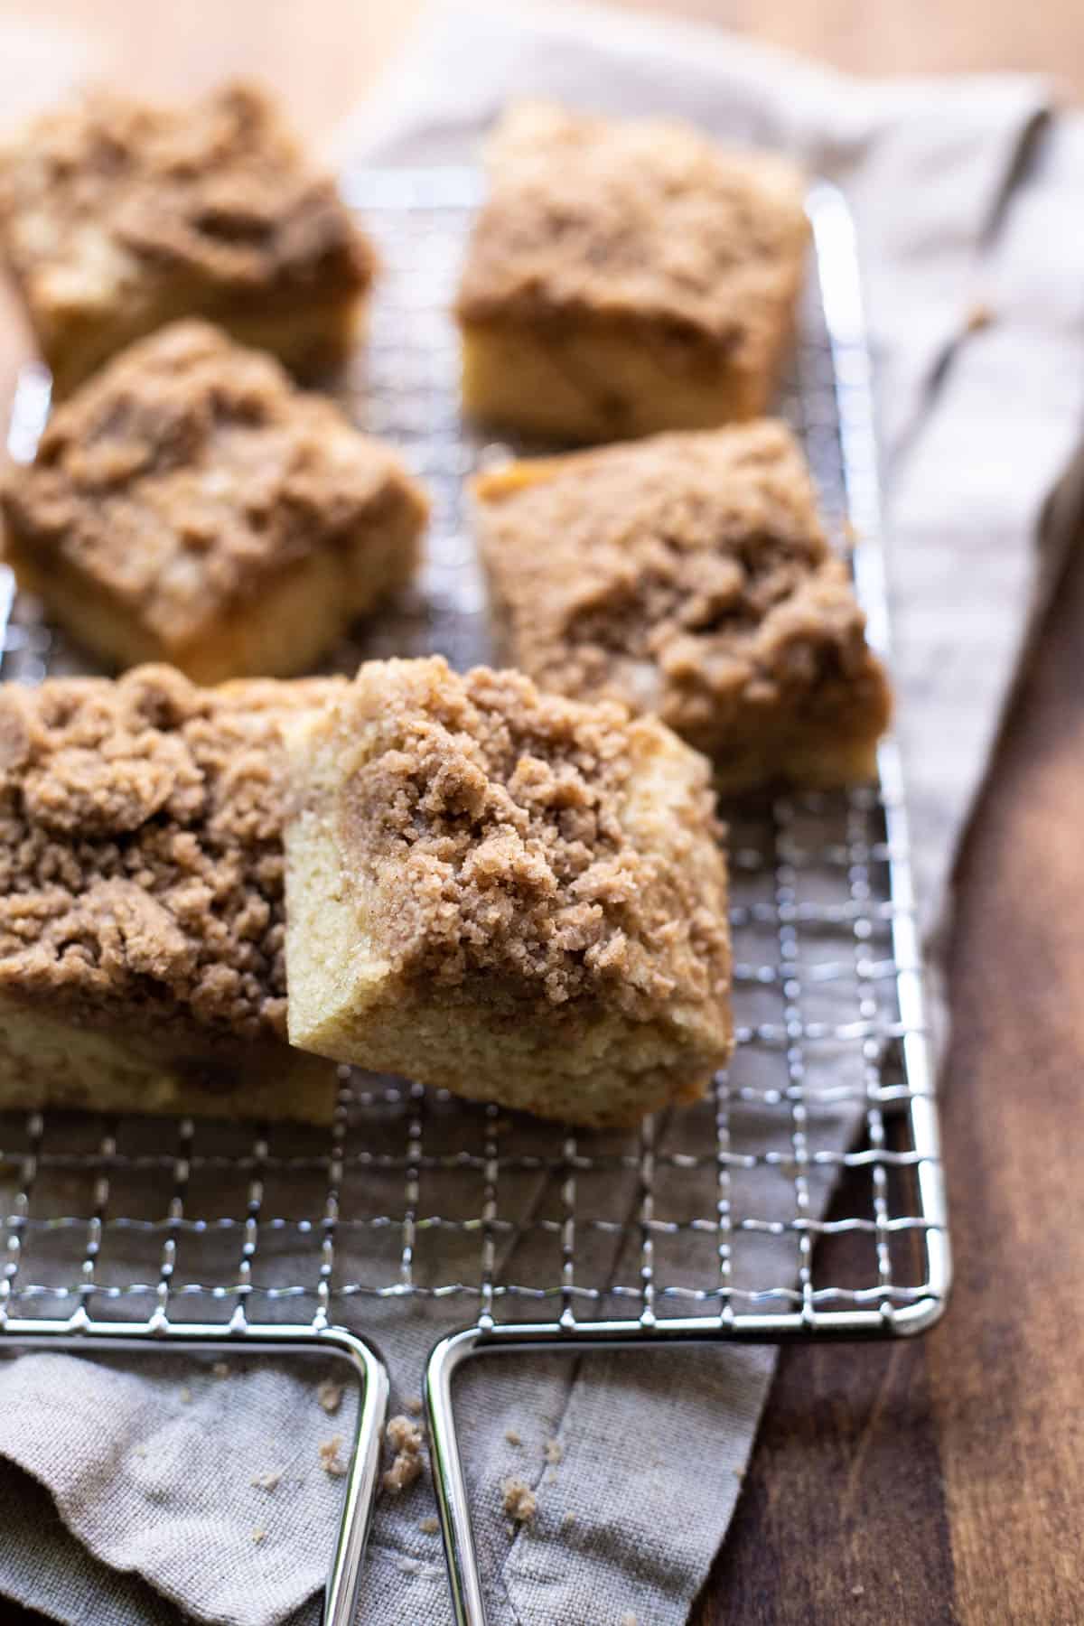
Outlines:
{"label": "blurred crumb-topped cake square at back right of the rack", "polygon": [[787,159],[525,102],[488,167],[458,293],[468,411],[559,441],[765,411],[808,244]]}

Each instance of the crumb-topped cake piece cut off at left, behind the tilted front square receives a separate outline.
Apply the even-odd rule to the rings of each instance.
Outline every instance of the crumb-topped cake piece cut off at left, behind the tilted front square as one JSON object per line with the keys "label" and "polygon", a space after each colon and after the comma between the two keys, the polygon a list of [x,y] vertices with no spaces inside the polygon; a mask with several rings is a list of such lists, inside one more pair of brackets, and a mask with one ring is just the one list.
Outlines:
{"label": "crumb-topped cake piece cut off at left, behind the tilted front square", "polygon": [[0,1107],[330,1120],[286,1044],[281,727],[340,685],[0,685]]}

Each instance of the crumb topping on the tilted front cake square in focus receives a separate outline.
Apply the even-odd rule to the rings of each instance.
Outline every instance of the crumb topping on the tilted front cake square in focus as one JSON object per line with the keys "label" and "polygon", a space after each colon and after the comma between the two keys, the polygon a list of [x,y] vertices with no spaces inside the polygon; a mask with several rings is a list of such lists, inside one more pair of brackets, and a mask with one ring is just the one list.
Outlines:
{"label": "crumb topping on the tilted front cake square in focus", "polygon": [[[590,998],[653,1020],[720,998],[709,766],[658,724],[431,659],[362,667],[330,728],[343,862],[398,972],[445,992],[481,977],[509,1013]],[[650,841],[632,806],[660,759],[683,797]]]}

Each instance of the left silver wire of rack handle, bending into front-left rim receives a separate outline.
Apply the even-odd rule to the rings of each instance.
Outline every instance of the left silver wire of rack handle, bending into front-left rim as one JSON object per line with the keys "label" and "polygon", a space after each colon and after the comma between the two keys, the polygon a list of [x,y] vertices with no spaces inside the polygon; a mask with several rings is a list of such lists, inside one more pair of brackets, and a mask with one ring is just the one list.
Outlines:
{"label": "left silver wire of rack handle, bending into front-left rim", "polygon": [[192,1350],[200,1354],[340,1354],[351,1363],[362,1384],[358,1406],[354,1450],[346,1478],[343,1517],[323,1595],[323,1626],[351,1626],[358,1608],[361,1564],[372,1525],[372,1509],[380,1475],[380,1439],[388,1410],[388,1371],[377,1350],[345,1327],[323,1324],[257,1324],[239,1319],[228,1330],[221,1324],[184,1322],[164,1315],[148,1322],[98,1322],[78,1311],[68,1320],[0,1324],[0,1354],[18,1350],[63,1350],[68,1354],[133,1353],[150,1350]]}

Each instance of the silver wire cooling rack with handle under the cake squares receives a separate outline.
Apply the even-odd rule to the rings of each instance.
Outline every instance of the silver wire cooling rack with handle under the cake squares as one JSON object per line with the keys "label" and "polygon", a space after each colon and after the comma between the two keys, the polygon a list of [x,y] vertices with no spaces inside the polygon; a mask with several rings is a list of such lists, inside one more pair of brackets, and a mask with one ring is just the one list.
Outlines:
{"label": "silver wire cooling rack with handle under the cake squares", "polygon": [[[362,172],[348,195],[385,275],[349,380],[358,421],[434,498],[414,598],[333,665],[488,654],[465,476],[499,447],[457,410],[447,314],[478,202],[468,171]],[[830,187],[780,410],[804,442],[869,636],[887,647],[878,480],[855,244]],[[10,452],[33,455],[49,380],[28,369]],[[5,678],[88,670],[10,582]],[[639,1132],[582,1133],[401,1081],[343,1075],[328,1132],[0,1115],[0,1346],[333,1350],[364,1384],[325,1619],[351,1618],[388,1376],[411,1301],[447,1301],[424,1393],[455,1618],[484,1605],[452,1376],[486,1351],[899,1337],[941,1314],[949,1246],[895,745],[879,784],[728,810],[738,1047],[709,1101]],[[171,1143],[172,1141],[172,1143]],[[826,1218],[852,1171],[850,1211]],[[865,1262],[824,1278],[816,1241]],[[462,1324],[466,1322],[463,1327]],[[397,1372],[405,1385],[418,1374]]]}

